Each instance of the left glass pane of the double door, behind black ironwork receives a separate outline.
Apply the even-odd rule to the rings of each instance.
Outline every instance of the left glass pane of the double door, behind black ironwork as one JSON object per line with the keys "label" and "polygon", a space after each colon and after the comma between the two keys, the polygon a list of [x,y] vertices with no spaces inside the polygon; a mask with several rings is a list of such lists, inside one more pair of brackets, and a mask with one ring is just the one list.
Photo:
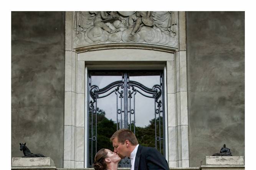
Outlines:
{"label": "left glass pane of the double door, behind black ironwork", "polygon": [[[94,90],[101,90],[112,82],[119,80],[122,80],[122,75],[91,74],[91,86],[96,85],[98,87],[98,89],[93,89],[92,92]],[[89,96],[89,101],[91,102],[89,104],[89,139],[91,139],[89,140],[89,167],[94,162],[94,156],[98,150],[102,148],[113,150],[110,137],[116,132],[117,126],[119,126],[117,124],[117,102],[120,105],[120,94],[115,91],[116,88],[106,89],[104,93],[97,96],[95,102],[91,95]],[[93,107],[95,110],[97,108],[97,115],[92,113]]]}

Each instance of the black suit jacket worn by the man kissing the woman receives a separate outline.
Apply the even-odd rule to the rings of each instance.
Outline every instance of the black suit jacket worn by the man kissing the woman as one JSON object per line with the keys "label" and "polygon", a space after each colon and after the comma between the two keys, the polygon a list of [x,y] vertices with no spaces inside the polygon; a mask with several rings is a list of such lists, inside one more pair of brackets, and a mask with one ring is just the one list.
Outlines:
{"label": "black suit jacket worn by the man kissing the woman", "polygon": [[139,145],[134,170],[169,170],[164,156],[155,148]]}

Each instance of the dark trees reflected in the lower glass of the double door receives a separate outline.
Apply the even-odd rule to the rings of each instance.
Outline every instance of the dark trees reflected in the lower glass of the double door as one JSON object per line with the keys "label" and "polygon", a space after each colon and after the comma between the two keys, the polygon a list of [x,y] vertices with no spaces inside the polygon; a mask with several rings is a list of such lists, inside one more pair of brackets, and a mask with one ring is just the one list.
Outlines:
{"label": "dark trees reflected in the lower glass of the double door", "polygon": [[[112,142],[110,141],[110,137],[114,132],[116,132],[116,127],[119,127],[119,123],[116,124],[112,119],[107,119],[105,117],[106,113],[104,110],[100,110],[97,108],[97,151],[102,148],[107,148],[113,150]],[[91,116],[93,116],[93,126],[91,126]],[[89,110],[89,137],[91,138],[91,130],[93,134],[96,134],[96,126],[95,126],[95,119],[96,115],[91,114],[91,109]],[[131,124],[128,124],[128,128],[133,131],[134,129],[134,121]],[[163,137],[163,117],[160,116],[160,123],[161,123],[161,137]],[[157,127],[155,128],[155,119],[151,119],[149,121],[149,125],[145,127],[135,127],[135,136],[140,145],[147,146],[147,147],[155,147],[155,130],[157,132],[157,136],[159,136],[159,118],[156,121]],[[161,153],[163,154],[163,141],[161,140]],[[159,144],[157,144],[157,150],[159,150]],[[89,165],[91,167],[91,159],[92,163],[95,156],[95,144],[92,147],[92,157],[91,157],[91,140],[89,140]]]}

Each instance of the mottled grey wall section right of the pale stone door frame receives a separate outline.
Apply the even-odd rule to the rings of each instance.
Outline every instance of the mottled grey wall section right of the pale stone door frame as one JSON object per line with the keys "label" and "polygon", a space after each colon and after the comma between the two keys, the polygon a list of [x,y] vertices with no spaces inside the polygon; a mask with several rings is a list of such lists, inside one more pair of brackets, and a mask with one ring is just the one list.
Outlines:
{"label": "mottled grey wall section right of the pale stone door frame", "polygon": [[190,167],[244,156],[244,12],[187,12]]}

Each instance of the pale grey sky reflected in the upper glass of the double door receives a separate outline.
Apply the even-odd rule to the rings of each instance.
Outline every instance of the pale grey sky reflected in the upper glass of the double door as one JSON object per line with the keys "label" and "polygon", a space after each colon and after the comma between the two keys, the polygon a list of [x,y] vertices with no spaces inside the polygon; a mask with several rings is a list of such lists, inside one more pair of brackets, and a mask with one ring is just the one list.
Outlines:
{"label": "pale grey sky reflected in the upper glass of the double door", "polygon": [[[101,88],[106,87],[110,83],[118,81],[118,80],[122,80],[121,75],[119,75],[119,76],[92,75],[91,76],[91,82],[92,82],[91,85],[97,85],[99,87],[99,89],[101,89]],[[156,84],[160,85],[160,75],[150,75],[150,76],[149,75],[145,75],[145,76],[130,75],[129,80],[139,82],[148,88],[152,88]],[[109,90],[108,92],[106,92],[100,96],[106,95],[107,93],[111,92],[112,90],[114,90],[114,88],[112,88],[111,90]],[[128,89],[128,90],[130,90],[130,89]],[[137,88],[137,90],[144,93],[145,95],[152,96],[152,94],[151,95],[147,94],[147,93],[143,92],[142,90],[140,90],[139,88]],[[90,100],[91,100],[91,98],[90,98]],[[117,100],[118,100],[118,103],[117,103]],[[131,105],[129,104],[130,103],[129,100],[130,99],[128,98],[128,111],[129,111],[130,107],[131,107],[131,109],[134,109],[134,94],[132,94]],[[116,118],[117,105],[118,105],[118,109],[121,109],[121,98],[119,98],[119,94],[118,94],[118,97],[116,97],[116,94],[114,92],[109,96],[97,99],[97,107],[101,110],[104,110],[106,113],[106,115],[105,115],[106,118],[112,119],[112,121],[114,121],[115,123],[117,121],[117,118]],[[122,98],[122,110],[124,110],[124,98]],[[154,110],[155,110],[154,98],[145,97],[137,92],[135,95],[135,126],[145,127],[145,126],[149,125],[149,121],[151,119],[155,118]],[[129,114],[130,113],[128,113],[128,115]],[[121,119],[121,115],[118,114],[118,121],[120,121],[120,119]],[[124,119],[124,113],[122,113],[122,119]],[[131,114],[131,121],[133,121],[133,120],[134,120],[134,115]],[[130,116],[128,117],[128,123],[130,124]]]}

